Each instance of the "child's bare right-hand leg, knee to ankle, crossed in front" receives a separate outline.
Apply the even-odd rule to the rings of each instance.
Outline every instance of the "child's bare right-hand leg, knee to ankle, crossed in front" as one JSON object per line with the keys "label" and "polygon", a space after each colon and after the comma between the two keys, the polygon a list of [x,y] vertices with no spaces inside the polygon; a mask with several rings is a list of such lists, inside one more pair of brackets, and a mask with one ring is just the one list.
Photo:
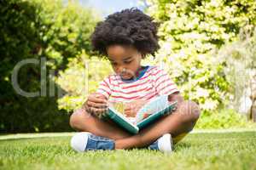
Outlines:
{"label": "child's bare right-hand leg, knee to ankle, crossed in front", "polygon": [[152,126],[144,128],[137,135],[126,139],[115,141],[116,149],[129,149],[134,147],[144,147],[160,138],[165,133],[171,133],[175,139],[180,135],[189,133],[195,126],[195,122],[200,116],[199,106],[195,102],[184,101],[171,115],[162,117],[160,121]]}

